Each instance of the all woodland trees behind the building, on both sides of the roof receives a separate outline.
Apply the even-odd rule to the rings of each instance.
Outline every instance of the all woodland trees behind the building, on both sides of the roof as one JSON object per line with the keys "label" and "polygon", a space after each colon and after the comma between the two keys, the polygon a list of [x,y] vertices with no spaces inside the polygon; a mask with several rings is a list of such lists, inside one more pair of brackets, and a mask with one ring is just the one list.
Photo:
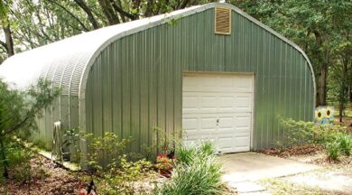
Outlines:
{"label": "all woodland trees behind the building, on both sides of the roof", "polygon": [[[116,23],[212,0],[2,0],[0,60]],[[301,46],[313,65],[317,105],[352,100],[349,0],[229,0]],[[328,96],[329,95],[329,96]],[[348,97],[349,96],[349,97]],[[327,99],[329,98],[329,99]]]}

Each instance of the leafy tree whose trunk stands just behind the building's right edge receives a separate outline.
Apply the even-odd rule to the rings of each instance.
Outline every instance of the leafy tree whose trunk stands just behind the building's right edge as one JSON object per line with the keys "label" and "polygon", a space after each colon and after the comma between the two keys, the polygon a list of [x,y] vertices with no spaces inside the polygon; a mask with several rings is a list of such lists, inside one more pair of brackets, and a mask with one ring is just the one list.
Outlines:
{"label": "leafy tree whose trunk stands just behind the building's right edge", "polygon": [[[232,4],[296,42],[308,54],[317,78],[318,105],[327,105],[329,67],[337,61],[334,41],[341,33],[337,20],[352,12],[347,0],[232,0]],[[346,17],[347,15],[347,17]],[[350,23],[347,27],[352,29]],[[347,29],[348,29],[347,28]],[[339,36],[339,35],[338,35]]]}

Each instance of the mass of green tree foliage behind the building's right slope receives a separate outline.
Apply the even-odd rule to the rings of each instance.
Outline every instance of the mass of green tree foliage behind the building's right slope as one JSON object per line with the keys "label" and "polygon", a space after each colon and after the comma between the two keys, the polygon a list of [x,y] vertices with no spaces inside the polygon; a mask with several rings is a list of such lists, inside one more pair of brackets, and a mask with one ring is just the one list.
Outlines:
{"label": "mass of green tree foliage behind the building's right slope", "polygon": [[[310,57],[317,78],[318,103],[326,105],[328,86],[352,86],[349,0],[230,0],[276,32],[297,43]],[[344,68],[345,67],[345,68]],[[349,73],[347,71],[349,70]],[[338,75],[338,77],[331,77]],[[349,81],[348,81],[349,80]],[[344,90],[338,89],[338,96]],[[343,92],[343,94],[340,94]]]}

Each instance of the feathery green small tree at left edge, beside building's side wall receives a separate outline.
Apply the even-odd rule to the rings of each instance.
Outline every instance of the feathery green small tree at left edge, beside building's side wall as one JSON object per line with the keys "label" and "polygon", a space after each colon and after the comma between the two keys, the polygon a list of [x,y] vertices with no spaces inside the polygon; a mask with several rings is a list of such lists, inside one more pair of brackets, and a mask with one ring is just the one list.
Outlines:
{"label": "feathery green small tree at left edge, beside building's side wall", "polygon": [[10,90],[0,80],[0,162],[5,178],[8,178],[9,166],[6,144],[14,142],[14,135],[28,138],[36,129],[35,117],[41,116],[42,110],[51,105],[59,93],[59,89],[51,88],[51,83],[44,80],[24,92]]}

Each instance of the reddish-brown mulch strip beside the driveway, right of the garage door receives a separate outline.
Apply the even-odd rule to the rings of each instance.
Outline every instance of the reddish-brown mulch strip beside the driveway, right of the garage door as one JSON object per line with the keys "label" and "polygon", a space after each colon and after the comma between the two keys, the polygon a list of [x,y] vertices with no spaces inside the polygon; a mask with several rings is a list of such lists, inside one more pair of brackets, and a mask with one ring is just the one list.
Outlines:
{"label": "reddish-brown mulch strip beside the driveway, right of the garage door", "polygon": [[295,146],[283,148],[283,149],[271,148],[271,149],[266,149],[259,152],[267,155],[278,156],[281,158],[289,158],[291,156],[296,156],[296,155],[307,155],[307,154],[314,155],[322,151],[323,151],[323,147],[320,144],[302,144],[302,145],[295,145]]}

